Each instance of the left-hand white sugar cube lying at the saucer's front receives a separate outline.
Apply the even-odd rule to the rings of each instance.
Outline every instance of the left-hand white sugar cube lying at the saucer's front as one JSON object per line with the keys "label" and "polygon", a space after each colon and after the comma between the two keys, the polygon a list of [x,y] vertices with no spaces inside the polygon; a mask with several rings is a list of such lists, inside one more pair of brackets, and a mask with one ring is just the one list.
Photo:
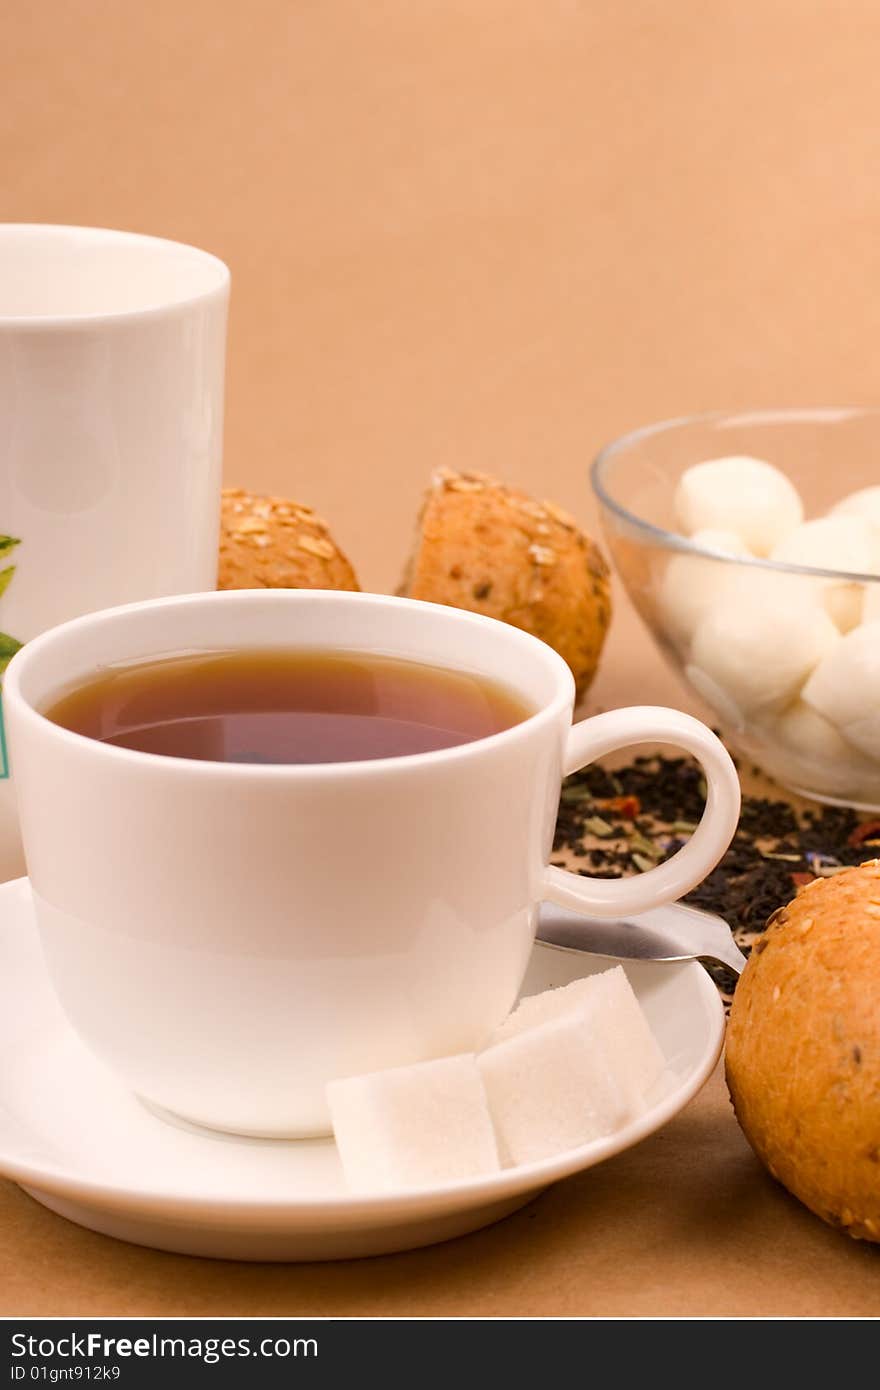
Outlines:
{"label": "left-hand white sugar cube lying at the saucer's front", "polygon": [[432,1187],[500,1168],[473,1054],[331,1081],[327,1101],[356,1191]]}

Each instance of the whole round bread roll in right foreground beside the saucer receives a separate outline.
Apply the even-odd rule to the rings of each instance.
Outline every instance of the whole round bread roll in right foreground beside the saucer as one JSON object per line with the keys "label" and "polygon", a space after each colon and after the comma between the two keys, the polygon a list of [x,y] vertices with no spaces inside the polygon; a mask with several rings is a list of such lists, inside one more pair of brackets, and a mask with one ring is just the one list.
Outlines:
{"label": "whole round bread roll in right foreground beside the saucer", "polygon": [[737,986],[727,1084],[795,1197],[880,1241],[880,859],[816,878],[770,917]]}

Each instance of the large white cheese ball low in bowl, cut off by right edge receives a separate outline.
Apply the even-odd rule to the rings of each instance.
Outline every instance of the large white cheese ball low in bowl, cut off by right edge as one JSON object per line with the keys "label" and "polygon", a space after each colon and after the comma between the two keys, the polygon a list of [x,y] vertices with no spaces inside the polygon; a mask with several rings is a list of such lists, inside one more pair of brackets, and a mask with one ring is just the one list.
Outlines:
{"label": "large white cheese ball low in bowl, cut off by right edge", "polygon": [[880,758],[880,621],[862,623],[841,637],[808,680],[804,699],[848,744]]}

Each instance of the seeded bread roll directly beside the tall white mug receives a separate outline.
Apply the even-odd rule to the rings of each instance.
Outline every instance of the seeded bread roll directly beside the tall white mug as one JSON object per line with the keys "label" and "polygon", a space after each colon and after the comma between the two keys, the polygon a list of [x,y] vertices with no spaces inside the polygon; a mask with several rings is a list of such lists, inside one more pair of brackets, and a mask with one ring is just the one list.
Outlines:
{"label": "seeded bread roll directly beside the tall white mug", "polygon": [[348,559],[311,507],[224,488],[218,589],[359,589]]}

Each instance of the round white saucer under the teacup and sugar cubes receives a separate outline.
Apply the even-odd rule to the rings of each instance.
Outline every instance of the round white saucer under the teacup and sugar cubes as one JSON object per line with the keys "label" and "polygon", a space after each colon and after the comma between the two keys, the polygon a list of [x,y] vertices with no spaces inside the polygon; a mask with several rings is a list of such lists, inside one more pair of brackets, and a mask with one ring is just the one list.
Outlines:
{"label": "round white saucer under the teacup and sugar cubes", "polygon": [[[608,969],[537,945],[524,994]],[[227,1259],[348,1259],[448,1240],[516,1211],[676,1115],[722,1049],[724,1016],[696,963],[624,962],[676,1084],[637,1123],[557,1158],[470,1182],[353,1197],[331,1140],[247,1140],[171,1123],[71,1030],[46,977],[26,878],[0,887],[0,1173],[120,1240]]]}

